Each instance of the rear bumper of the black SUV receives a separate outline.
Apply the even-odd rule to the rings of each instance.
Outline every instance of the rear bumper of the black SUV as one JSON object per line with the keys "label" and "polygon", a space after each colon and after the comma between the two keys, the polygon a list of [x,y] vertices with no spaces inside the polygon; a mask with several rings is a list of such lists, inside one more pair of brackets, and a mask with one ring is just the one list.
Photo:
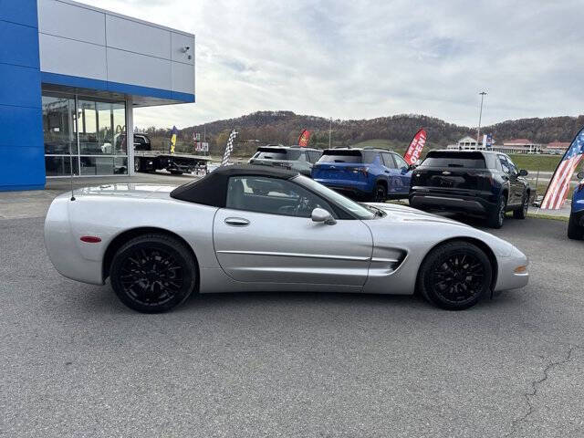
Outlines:
{"label": "rear bumper of the black SUV", "polygon": [[459,195],[456,193],[411,192],[410,206],[425,211],[488,214],[496,208],[496,203],[491,203],[480,196]]}

